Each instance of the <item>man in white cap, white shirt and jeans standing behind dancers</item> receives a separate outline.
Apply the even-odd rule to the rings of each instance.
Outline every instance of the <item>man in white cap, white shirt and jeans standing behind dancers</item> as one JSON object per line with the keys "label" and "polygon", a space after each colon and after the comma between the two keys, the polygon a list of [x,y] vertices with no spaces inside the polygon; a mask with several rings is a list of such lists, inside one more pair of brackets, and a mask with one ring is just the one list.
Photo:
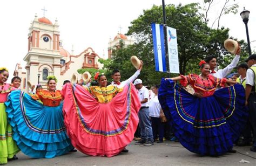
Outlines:
{"label": "man in white cap, white shirt and jeans standing behind dancers", "polygon": [[151,146],[154,144],[154,139],[149,117],[149,90],[143,86],[141,79],[136,79],[134,81],[134,86],[136,89],[138,89],[140,103],[142,103],[142,107],[139,110],[139,127],[141,140],[135,144]]}

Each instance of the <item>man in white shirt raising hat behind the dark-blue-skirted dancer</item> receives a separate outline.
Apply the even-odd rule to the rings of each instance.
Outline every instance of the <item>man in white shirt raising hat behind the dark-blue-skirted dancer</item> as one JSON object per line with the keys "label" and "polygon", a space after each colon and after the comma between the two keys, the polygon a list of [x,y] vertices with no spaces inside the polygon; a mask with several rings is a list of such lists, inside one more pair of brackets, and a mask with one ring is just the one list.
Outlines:
{"label": "man in white shirt raising hat behind the dark-blue-skirted dancer", "polygon": [[241,52],[241,47],[238,47],[238,51],[232,60],[231,64],[227,65],[225,68],[220,69],[218,71],[215,71],[215,68],[217,67],[217,59],[214,56],[209,56],[205,59],[206,63],[210,65],[210,74],[212,74],[214,77],[217,78],[225,78],[235,66],[237,66],[239,59],[240,59],[240,52]]}

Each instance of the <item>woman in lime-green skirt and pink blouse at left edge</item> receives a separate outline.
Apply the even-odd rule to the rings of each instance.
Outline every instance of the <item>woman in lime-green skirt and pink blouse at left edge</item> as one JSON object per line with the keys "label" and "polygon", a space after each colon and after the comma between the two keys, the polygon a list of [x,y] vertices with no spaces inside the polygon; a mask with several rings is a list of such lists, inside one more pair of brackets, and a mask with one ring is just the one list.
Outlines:
{"label": "woman in lime-green skirt and pink blouse at left edge", "polygon": [[4,102],[7,95],[15,90],[10,84],[6,84],[9,77],[7,68],[0,67],[0,164],[6,164],[8,160],[16,160],[15,154],[19,149],[12,139],[12,128],[7,121]]}

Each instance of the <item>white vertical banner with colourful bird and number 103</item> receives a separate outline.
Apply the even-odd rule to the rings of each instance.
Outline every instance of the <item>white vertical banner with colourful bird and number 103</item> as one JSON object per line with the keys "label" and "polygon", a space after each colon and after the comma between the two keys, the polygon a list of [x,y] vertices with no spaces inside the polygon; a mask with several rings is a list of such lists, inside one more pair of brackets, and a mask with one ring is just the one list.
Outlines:
{"label": "white vertical banner with colourful bird and number 103", "polygon": [[176,29],[166,26],[170,73],[179,74],[179,57]]}

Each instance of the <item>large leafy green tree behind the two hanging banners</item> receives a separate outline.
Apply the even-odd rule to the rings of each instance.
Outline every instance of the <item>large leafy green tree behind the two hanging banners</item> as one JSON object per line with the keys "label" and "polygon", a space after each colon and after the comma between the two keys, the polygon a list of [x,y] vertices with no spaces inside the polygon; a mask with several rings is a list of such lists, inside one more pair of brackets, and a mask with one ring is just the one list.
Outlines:
{"label": "large leafy green tree behind the two hanging banners", "polygon": [[[166,5],[166,24],[177,29],[179,66],[180,73],[191,72],[191,64],[195,60],[204,59],[209,54],[219,57],[221,54],[227,54],[224,49],[224,40],[228,38],[228,29],[211,29],[198,15],[199,5],[191,3],[178,6]],[[131,22],[127,34],[133,35],[137,39],[137,45],[142,50],[147,47],[149,52],[145,53],[151,56],[153,63],[153,46],[151,23],[162,23],[163,12],[161,6],[154,5],[149,10],[144,10],[143,15]],[[144,60],[144,59],[143,59]]]}

